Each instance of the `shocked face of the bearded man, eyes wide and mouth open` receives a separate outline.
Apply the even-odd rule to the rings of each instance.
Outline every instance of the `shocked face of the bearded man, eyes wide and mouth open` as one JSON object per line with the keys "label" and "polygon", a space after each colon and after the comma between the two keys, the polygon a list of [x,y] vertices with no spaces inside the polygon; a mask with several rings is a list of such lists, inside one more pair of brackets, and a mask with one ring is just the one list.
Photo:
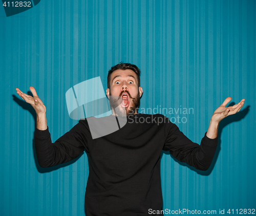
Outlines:
{"label": "shocked face of the bearded man, eyes wide and mouth open", "polygon": [[122,116],[137,113],[142,92],[142,88],[138,87],[137,75],[132,70],[114,71],[110,77],[110,89],[106,89],[106,95],[109,98],[110,96],[119,96],[122,98],[122,101],[119,97],[110,98],[111,106],[118,106],[119,114],[117,113],[117,115]]}

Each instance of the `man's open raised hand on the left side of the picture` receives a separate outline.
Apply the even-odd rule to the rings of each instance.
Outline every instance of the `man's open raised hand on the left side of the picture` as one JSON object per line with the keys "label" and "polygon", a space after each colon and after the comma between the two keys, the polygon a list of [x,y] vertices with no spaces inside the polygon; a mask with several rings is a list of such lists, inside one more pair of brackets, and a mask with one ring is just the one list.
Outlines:
{"label": "man's open raised hand on the left side of the picture", "polygon": [[30,103],[36,114],[45,114],[46,113],[46,106],[44,105],[44,103],[40,100],[40,98],[37,96],[36,91],[34,89],[34,87],[29,87],[30,91],[33,94],[33,97],[27,94],[24,94],[22,91],[20,91],[18,88],[16,88],[17,94],[23,99],[25,100],[27,103]]}

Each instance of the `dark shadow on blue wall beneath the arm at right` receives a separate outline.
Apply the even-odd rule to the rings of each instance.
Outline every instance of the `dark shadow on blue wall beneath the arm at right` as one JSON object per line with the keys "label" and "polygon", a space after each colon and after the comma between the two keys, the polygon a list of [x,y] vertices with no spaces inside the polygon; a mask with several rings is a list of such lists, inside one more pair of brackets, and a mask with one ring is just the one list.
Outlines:
{"label": "dark shadow on blue wall beneath the arm at right", "polygon": [[[233,106],[234,104],[235,104],[235,103],[232,102],[232,103],[230,103],[228,106]],[[189,165],[187,165],[186,163],[183,163],[183,162],[178,161],[176,158],[174,158],[172,155],[170,155],[169,152],[164,152],[164,151],[162,151],[162,153],[161,153],[161,158],[162,158],[162,155],[163,155],[163,154],[165,154],[165,155],[170,155],[170,157],[172,157],[172,158],[173,158],[176,162],[178,162],[180,165],[186,166],[186,167],[188,167],[189,169],[196,171],[199,175],[202,175],[202,176],[208,176],[208,175],[210,175],[212,169],[214,169],[214,166],[215,166],[215,164],[216,164],[216,161],[217,161],[217,158],[218,158],[218,156],[219,156],[220,149],[221,149],[221,133],[222,133],[222,131],[223,131],[223,128],[224,128],[225,126],[227,126],[228,124],[232,123],[232,122],[236,122],[236,121],[242,120],[242,119],[248,114],[249,108],[250,108],[250,106],[248,105],[244,110],[239,111],[239,112],[236,113],[235,115],[228,116],[228,117],[224,118],[224,119],[220,122],[219,129],[218,129],[218,146],[217,146],[217,149],[216,149],[216,152],[215,152],[214,159],[212,159],[211,165],[210,165],[210,167],[209,167],[206,171],[198,170],[198,169],[196,169],[196,168],[193,167],[193,166],[189,166]]]}

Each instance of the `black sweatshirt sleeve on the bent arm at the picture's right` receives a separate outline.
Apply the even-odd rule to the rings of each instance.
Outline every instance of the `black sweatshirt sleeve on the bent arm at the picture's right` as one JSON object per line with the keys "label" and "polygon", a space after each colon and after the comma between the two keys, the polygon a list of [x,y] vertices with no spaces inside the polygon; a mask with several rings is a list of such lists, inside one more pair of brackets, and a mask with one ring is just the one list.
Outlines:
{"label": "black sweatshirt sleeve on the bent arm at the picture's right", "polygon": [[166,140],[163,150],[180,162],[185,162],[199,170],[207,170],[214,159],[215,151],[218,145],[218,137],[210,139],[206,136],[197,144],[189,140],[172,122],[168,122],[165,127]]}

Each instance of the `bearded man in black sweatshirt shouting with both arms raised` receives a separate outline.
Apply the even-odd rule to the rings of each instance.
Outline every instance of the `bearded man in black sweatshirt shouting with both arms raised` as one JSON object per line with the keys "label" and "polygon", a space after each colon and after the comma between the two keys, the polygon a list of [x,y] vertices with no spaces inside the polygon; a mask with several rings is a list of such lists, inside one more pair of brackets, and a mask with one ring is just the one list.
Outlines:
{"label": "bearded man in black sweatshirt shouting with both arms raised", "polygon": [[97,119],[80,119],[70,132],[52,143],[46,122],[46,107],[35,89],[30,87],[34,97],[16,90],[20,97],[34,107],[37,114],[35,149],[40,166],[68,162],[86,149],[89,177],[85,208],[88,216],[154,215],[151,212],[161,210],[161,151],[168,150],[179,161],[197,169],[208,169],[217,147],[219,122],[240,111],[244,104],[243,99],[226,108],[231,100],[228,97],[212,115],[208,131],[201,145],[198,145],[163,115],[137,112],[143,93],[140,70],[134,64],[119,63],[109,71],[106,89],[113,115],[99,118],[98,121],[103,119],[112,122],[118,116],[121,117],[118,119],[120,124],[125,119],[124,126],[93,139],[88,122]]}

